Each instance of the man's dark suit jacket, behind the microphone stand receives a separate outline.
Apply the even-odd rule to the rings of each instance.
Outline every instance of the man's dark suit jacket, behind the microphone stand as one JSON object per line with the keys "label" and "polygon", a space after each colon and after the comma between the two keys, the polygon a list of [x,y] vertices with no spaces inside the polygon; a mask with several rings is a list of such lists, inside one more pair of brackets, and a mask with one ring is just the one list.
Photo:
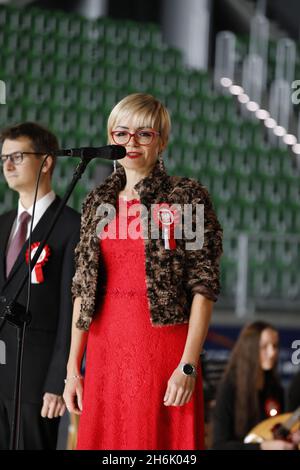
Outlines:
{"label": "man's dark suit jacket, behind the microphone stand", "polygon": [[[32,243],[41,241],[59,205],[57,197],[46,210],[32,234]],[[27,244],[23,246],[6,279],[5,253],[17,211],[0,216],[0,293],[12,297],[28,266]],[[44,282],[31,285],[32,321],[26,329],[22,402],[40,403],[45,392],[62,394],[68,358],[74,275],[74,249],[79,240],[80,216],[66,207],[48,240],[51,253],[43,267]],[[27,284],[19,297],[26,305]],[[6,364],[0,364],[0,396],[13,399],[17,330],[6,323],[0,332],[6,345]]]}

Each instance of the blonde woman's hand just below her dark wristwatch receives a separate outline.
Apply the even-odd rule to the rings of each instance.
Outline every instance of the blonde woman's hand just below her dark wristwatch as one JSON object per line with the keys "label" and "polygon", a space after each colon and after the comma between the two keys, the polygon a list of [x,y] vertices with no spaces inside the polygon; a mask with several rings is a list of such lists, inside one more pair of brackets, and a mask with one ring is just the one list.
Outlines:
{"label": "blonde woman's hand just below her dark wristwatch", "polygon": [[184,375],[180,369],[175,369],[168,380],[164,396],[165,406],[183,406],[191,399],[195,389],[196,377]]}

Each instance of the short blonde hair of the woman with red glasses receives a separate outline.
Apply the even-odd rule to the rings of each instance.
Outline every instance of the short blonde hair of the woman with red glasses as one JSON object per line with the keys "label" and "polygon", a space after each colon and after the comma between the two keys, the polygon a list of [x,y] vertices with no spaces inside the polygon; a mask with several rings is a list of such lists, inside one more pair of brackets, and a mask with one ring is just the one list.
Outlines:
{"label": "short blonde hair of the woman with red glasses", "polygon": [[154,96],[145,93],[133,93],[123,98],[112,109],[107,121],[108,139],[111,131],[122,120],[132,118],[136,127],[151,127],[160,133],[163,145],[169,139],[171,119],[167,108]]}

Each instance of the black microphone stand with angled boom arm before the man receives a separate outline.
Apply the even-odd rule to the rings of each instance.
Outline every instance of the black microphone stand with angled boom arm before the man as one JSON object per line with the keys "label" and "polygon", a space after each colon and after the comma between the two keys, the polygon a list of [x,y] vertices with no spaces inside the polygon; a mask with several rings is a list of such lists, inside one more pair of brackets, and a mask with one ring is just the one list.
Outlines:
{"label": "black microphone stand with angled boom arm before the man", "polygon": [[[56,222],[62,213],[64,207],[67,204],[67,201],[72,194],[77,182],[83,175],[88,163],[92,160],[92,157],[82,157],[81,162],[77,165],[73,179],[70,185],[67,188],[66,194],[62,198],[53,220],[50,224],[44,239],[41,241],[34,257],[31,261],[31,271],[34,269],[40,254],[43,251],[44,246],[46,245],[55,225]],[[29,247],[30,251],[30,247]],[[29,255],[30,256],[30,255]],[[28,279],[28,274],[24,275],[23,279],[21,280],[19,287],[17,288],[13,299],[8,299],[5,296],[0,297],[0,319],[3,320],[1,327],[4,326],[4,323],[7,321],[9,324],[13,325],[17,328],[18,331],[18,340],[17,340],[17,359],[16,359],[16,378],[15,378],[15,386],[14,386],[14,399],[13,399],[13,418],[12,418],[12,426],[11,426],[11,438],[10,438],[10,450],[18,450],[19,447],[19,437],[20,437],[20,410],[21,410],[21,377],[22,377],[22,350],[24,347],[24,339],[25,339],[25,329],[26,325],[31,321],[31,313],[26,311],[26,307],[19,304],[17,299],[19,298],[23,288],[25,287],[27,282],[31,282],[31,279]]]}

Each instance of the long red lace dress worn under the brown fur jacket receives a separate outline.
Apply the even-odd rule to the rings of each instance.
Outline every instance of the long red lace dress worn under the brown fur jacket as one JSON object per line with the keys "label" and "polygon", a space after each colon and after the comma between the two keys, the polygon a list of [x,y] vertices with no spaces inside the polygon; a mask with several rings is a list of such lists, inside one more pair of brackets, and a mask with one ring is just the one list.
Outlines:
{"label": "long red lace dress worn under the brown fur jacket", "polygon": [[[128,201],[127,208],[137,203]],[[201,375],[188,404],[163,404],[188,325],[151,325],[144,241],[119,237],[126,219],[139,222],[118,211],[109,224],[116,239],[101,240],[106,287],[88,335],[77,449],[202,449]]]}

